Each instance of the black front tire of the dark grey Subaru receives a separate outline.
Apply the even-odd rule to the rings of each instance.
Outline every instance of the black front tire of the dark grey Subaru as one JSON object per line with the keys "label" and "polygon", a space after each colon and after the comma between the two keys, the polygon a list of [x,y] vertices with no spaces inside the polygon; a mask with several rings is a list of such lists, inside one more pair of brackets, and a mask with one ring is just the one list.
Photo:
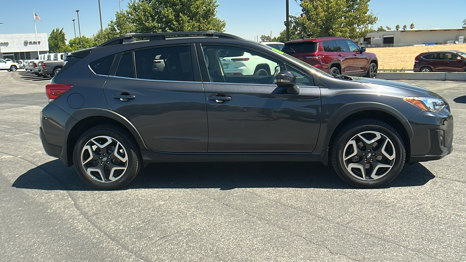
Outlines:
{"label": "black front tire of the dark grey Subaru", "polygon": [[[362,134],[362,136],[372,134],[375,136],[373,139],[377,139],[376,133],[379,133],[381,138],[370,144],[373,146],[367,146],[367,144],[364,144],[363,139],[358,136],[359,134]],[[353,138],[355,140],[354,145],[358,147],[354,151],[350,148],[353,147],[351,145]],[[356,142],[357,139],[360,142]],[[366,136],[367,139],[370,138]],[[390,142],[386,142],[388,147],[384,142],[386,139],[389,139],[388,142]],[[376,145],[376,143],[378,144]],[[377,146],[379,149],[377,149]],[[384,152],[381,152],[381,150],[384,150]],[[362,155],[351,157],[352,153],[356,151],[357,154]],[[376,152],[378,155],[374,158]],[[393,159],[389,159],[386,155]],[[345,160],[345,156],[350,158]],[[389,184],[403,169],[405,159],[406,150],[400,134],[389,124],[376,119],[361,119],[348,124],[339,132],[331,148],[331,161],[338,176],[349,185],[360,188],[376,188]],[[347,167],[347,165],[350,166]],[[388,167],[388,165],[391,165],[391,167]],[[361,168],[357,168],[357,166],[361,166]],[[364,172],[362,167],[364,167]],[[368,172],[370,172],[370,176],[367,176]],[[379,178],[377,178],[377,173],[380,176]],[[372,175],[376,178],[373,178]]]}

